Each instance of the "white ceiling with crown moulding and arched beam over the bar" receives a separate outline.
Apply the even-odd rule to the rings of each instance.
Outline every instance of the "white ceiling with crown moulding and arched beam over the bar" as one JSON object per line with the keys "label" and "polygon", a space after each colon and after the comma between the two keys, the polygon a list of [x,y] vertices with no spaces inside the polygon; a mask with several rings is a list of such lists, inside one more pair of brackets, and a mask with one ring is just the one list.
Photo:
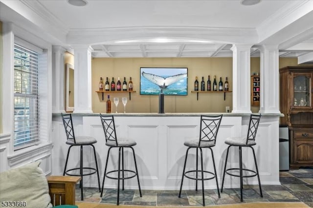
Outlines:
{"label": "white ceiling with crown moulding and arched beam over the bar", "polygon": [[67,49],[91,45],[93,57],[232,57],[232,44],[248,44],[252,57],[260,45],[276,45],[281,57],[313,60],[313,0],[87,2],[0,0],[0,20]]}

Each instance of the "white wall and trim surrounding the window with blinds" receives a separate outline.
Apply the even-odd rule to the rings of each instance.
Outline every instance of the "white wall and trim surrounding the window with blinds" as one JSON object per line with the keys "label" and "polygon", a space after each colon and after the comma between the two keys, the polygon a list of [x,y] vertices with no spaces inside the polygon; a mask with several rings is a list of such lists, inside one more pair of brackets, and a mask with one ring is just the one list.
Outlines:
{"label": "white wall and trim surrounding the window with blinds", "polygon": [[[19,37],[27,45],[29,43],[42,48],[43,53],[38,63],[40,76],[40,139],[41,144],[14,150],[14,42]],[[51,111],[51,44],[43,39],[17,27],[13,23],[2,25],[3,57],[1,67],[1,112],[0,122],[0,171],[22,166],[32,161],[42,160],[41,167],[45,174],[52,171],[52,111]]]}

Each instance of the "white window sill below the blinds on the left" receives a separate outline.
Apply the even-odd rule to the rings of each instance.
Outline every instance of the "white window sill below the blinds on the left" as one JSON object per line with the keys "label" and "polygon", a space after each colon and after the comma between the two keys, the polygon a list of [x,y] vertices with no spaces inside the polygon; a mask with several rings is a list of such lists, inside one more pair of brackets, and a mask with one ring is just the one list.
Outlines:
{"label": "white window sill below the blinds on the left", "polygon": [[26,147],[14,151],[12,155],[8,155],[8,165],[15,166],[23,161],[33,161],[36,156],[51,155],[52,143],[41,143],[39,145]]}

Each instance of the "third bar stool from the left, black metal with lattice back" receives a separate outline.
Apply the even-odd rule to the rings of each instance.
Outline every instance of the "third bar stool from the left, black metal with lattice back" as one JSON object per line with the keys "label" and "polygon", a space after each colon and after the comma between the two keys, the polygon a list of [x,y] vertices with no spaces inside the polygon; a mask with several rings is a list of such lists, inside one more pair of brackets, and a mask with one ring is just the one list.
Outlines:
{"label": "third bar stool from the left, black metal with lattice back", "polygon": [[[201,115],[199,139],[187,141],[184,143],[184,146],[188,146],[188,148],[186,151],[185,163],[184,163],[184,168],[182,171],[181,184],[180,184],[178,197],[180,198],[181,188],[182,188],[182,183],[183,183],[184,177],[196,180],[196,191],[198,191],[198,181],[200,180],[202,182],[202,205],[203,205],[203,207],[205,206],[205,203],[204,203],[204,181],[205,180],[210,180],[210,179],[215,178],[218,195],[219,195],[219,198],[221,198],[219,185],[218,185],[218,181],[217,181],[214,155],[213,155],[213,150],[211,147],[215,146],[215,144],[216,144],[217,133],[218,133],[219,128],[220,128],[222,117],[223,117],[223,115],[219,115],[219,116],[203,116],[203,115]],[[196,151],[197,151],[197,154],[196,154],[196,170],[185,171],[188,151],[191,148],[196,148]],[[211,150],[214,173],[207,171],[207,170],[203,170],[202,148],[208,148]],[[201,170],[198,170],[198,149],[200,149]],[[198,178],[198,172],[201,172],[200,178]],[[204,178],[204,176],[203,176],[204,172],[209,173],[210,177]],[[188,173],[196,173],[196,177],[189,176]]]}

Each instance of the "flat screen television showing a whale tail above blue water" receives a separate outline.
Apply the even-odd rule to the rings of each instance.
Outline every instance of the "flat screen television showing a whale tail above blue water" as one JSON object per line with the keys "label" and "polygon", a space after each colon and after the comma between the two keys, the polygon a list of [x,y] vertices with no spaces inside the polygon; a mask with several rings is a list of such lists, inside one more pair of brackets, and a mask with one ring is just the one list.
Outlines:
{"label": "flat screen television showing a whale tail above blue water", "polygon": [[188,68],[140,67],[140,95],[187,95]]}

